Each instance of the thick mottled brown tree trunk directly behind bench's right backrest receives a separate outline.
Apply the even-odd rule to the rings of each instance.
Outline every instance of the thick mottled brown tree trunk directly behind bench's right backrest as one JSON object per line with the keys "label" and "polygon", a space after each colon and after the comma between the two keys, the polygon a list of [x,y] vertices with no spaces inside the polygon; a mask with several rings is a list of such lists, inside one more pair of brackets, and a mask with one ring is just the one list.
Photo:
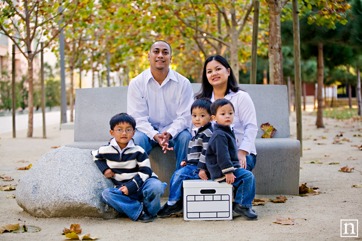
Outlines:
{"label": "thick mottled brown tree trunk directly behind bench's right backrest", "polygon": [[269,6],[269,78],[270,84],[282,83],[282,38],[280,0],[267,0]]}

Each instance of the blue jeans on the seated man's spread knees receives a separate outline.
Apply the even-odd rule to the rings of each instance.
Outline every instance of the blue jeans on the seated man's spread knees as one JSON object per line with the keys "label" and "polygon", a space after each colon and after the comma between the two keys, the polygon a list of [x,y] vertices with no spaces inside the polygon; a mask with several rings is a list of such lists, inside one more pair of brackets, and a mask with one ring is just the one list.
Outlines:
{"label": "blue jeans on the seated man's spread knees", "polygon": [[[158,142],[151,140],[141,131],[136,130],[133,136],[134,144],[142,147],[149,155],[152,148],[158,145]],[[191,140],[191,134],[188,130],[180,132],[175,139],[169,141],[168,147],[173,147],[176,155],[176,171],[181,168],[181,162],[187,157],[187,148]]]}

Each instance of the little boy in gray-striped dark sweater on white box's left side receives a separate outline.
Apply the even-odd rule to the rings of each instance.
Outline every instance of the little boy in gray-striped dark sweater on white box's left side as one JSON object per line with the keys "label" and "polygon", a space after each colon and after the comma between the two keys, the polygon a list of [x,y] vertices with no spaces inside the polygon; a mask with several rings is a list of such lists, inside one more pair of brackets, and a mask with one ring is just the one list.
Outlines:
{"label": "little boy in gray-striped dark sweater on white box's left side", "polygon": [[189,142],[187,158],[181,162],[182,168],[177,170],[171,178],[168,202],[157,213],[159,217],[169,217],[182,211],[181,189],[184,180],[208,179],[205,153],[212,135],[210,106],[211,101],[207,98],[200,98],[191,106],[192,123],[196,126],[192,129],[195,136]]}

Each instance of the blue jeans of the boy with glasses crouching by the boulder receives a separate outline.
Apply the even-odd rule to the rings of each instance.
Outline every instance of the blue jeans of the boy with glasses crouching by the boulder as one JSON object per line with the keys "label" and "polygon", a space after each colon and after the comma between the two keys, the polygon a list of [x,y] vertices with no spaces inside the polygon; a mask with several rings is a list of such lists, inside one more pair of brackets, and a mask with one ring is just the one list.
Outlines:
{"label": "blue jeans of the boy with glasses crouching by the boulder", "polygon": [[143,205],[151,216],[155,216],[160,211],[160,198],[166,187],[166,183],[161,183],[155,178],[148,178],[136,193],[127,196],[119,191],[119,188],[107,188],[102,193],[102,199],[119,213],[126,214],[132,221],[136,221],[142,212]]}

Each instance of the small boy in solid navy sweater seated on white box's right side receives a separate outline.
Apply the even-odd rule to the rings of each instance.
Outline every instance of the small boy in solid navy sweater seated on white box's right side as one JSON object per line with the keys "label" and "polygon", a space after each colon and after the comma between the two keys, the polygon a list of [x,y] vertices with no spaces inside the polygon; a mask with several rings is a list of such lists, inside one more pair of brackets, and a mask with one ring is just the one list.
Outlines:
{"label": "small boy in solid navy sweater seated on white box's right side", "polygon": [[206,166],[211,179],[227,182],[236,189],[233,211],[247,220],[258,220],[251,207],[255,197],[253,173],[241,168],[233,132],[234,106],[227,99],[218,99],[211,104],[212,118],[217,124],[206,150]]}

